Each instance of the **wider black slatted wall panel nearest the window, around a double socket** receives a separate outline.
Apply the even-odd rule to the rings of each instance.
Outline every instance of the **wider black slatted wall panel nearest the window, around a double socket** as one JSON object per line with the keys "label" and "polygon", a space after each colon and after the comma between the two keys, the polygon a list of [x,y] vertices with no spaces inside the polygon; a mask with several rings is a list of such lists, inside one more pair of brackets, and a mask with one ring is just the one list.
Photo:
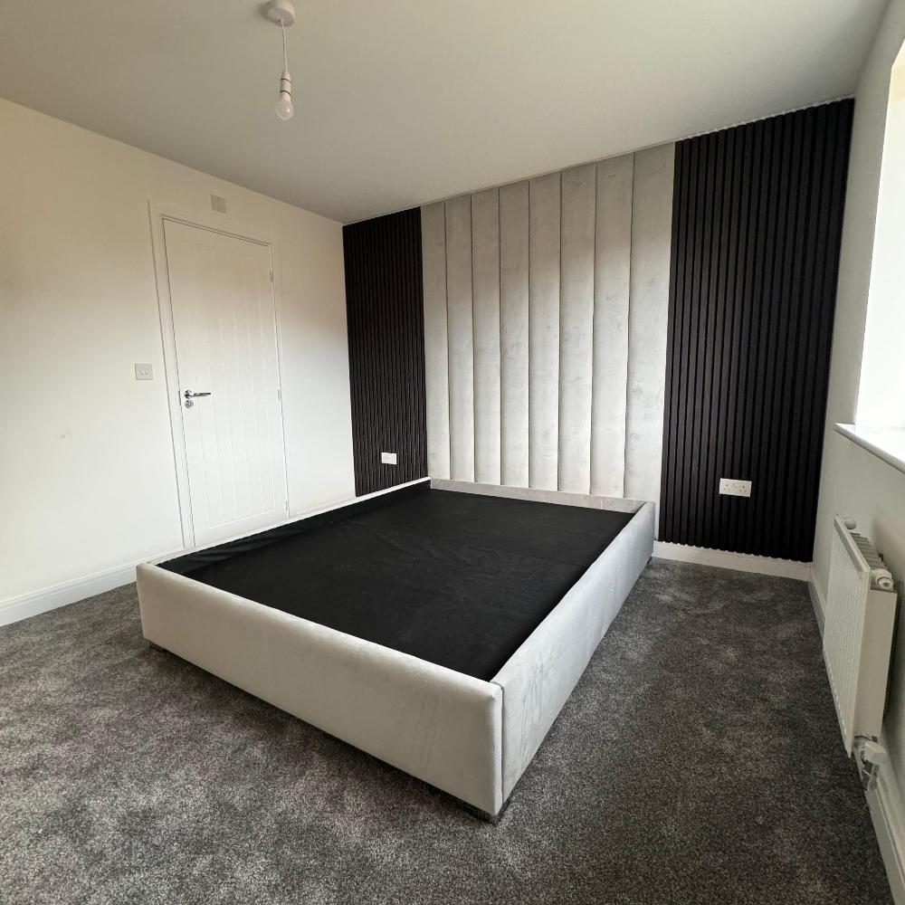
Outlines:
{"label": "wider black slatted wall panel nearest the window, around a double socket", "polygon": [[812,558],[852,114],[676,145],[662,540]]}

